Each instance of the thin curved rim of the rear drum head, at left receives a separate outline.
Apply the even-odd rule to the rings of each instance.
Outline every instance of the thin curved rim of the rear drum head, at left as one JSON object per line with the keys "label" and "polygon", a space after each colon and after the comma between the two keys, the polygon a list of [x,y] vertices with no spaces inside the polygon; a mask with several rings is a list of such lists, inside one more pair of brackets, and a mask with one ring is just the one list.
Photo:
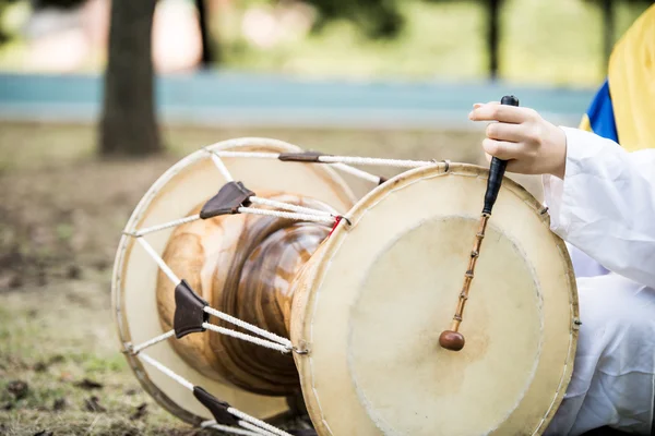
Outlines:
{"label": "thin curved rim of the rear drum head, at left", "polygon": [[[177,164],[168,168],[146,191],[141,197],[138,205],[133,209],[128,222],[126,223],[126,231],[132,231],[134,227],[142,220],[147,214],[148,207],[153,199],[155,199],[157,193],[159,193],[179,172],[183,169],[198,162],[199,160],[207,158],[207,150],[239,150],[240,148],[261,148],[258,152],[266,153],[297,153],[303,152],[299,146],[265,137],[240,137],[235,140],[223,141],[207,147],[203,147],[192,154],[183,157]],[[350,204],[356,203],[356,196],[354,195],[350,187],[342,179],[342,177],[330,166],[321,165],[315,168],[317,177],[322,177],[325,180],[330,180],[334,184],[335,191],[338,191],[340,195],[343,196],[344,202]],[[181,218],[181,217],[180,217]],[[142,362],[134,355],[127,352],[127,346],[131,344],[132,337],[130,332],[130,326],[126,318],[124,311],[124,288],[122,286],[122,275],[126,268],[126,255],[129,250],[133,247],[133,238],[128,234],[122,234],[118,250],[114,262],[114,271],[111,278],[111,305],[114,313],[114,320],[117,327],[118,338],[121,346],[121,352],[126,354],[130,370],[143,387],[143,389],[165,410],[179,417],[180,420],[192,424],[200,425],[201,422],[205,421],[203,416],[196,415],[183,407],[178,404],[169,396],[167,396],[154,382],[150,379]],[[130,246],[132,244],[132,246]],[[155,292],[155,289],[152,290]],[[238,388],[234,388],[239,390]]]}

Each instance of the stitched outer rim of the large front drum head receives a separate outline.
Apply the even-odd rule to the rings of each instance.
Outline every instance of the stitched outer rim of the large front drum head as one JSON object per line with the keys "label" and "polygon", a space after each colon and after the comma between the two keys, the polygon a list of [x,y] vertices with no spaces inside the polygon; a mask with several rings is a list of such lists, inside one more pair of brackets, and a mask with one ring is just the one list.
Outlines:
{"label": "stitched outer rim of the large front drum head", "polygon": [[[367,208],[371,205],[374,205],[379,201],[381,201],[389,191],[392,191],[396,187],[406,186],[410,183],[417,182],[420,179],[426,177],[448,177],[449,174],[462,174],[467,177],[477,177],[481,179],[487,179],[489,171],[487,168],[469,165],[469,164],[450,164],[448,169],[443,166],[429,166],[429,167],[420,167],[416,169],[412,169],[405,171],[389,181],[386,181],[383,185],[380,185],[369,192],[365,197],[362,197],[348,214],[348,219],[353,222],[353,226],[357,226],[358,221],[366,213]],[[517,195],[523,199],[525,204],[532,207],[536,213],[541,216],[541,221],[545,226],[549,228],[550,217],[546,213],[547,209],[522,185],[514,182],[509,178],[503,178],[503,190],[509,190],[513,194]],[[480,209],[483,206],[483,198],[480,198]],[[332,257],[335,255],[335,252],[338,250],[340,245],[343,242],[343,239],[347,237],[348,230],[344,225],[337,226],[332,237],[325,242],[325,246],[322,250],[321,258],[318,259],[318,264],[312,274],[313,280],[311,281],[311,286],[306,292],[305,303],[303,304],[303,313],[299,314],[300,322],[299,325],[295,328],[291,328],[291,340],[294,343],[297,341],[307,341],[309,347],[312,347],[312,336],[311,336],[311,318],[314,315],[314,299],[317,290],[322,286],[323,279],[325,278],[326,270],[331,263]],[[568,249],[565,246],[564,241],[559,238],[557,234],[551,233],[553,238],[553,242],[559,250],[562,262],[565,265],[567,269],[567,281],[569,282],[569,289],[571,290],[570,298],[570,306],[572,311],[571,316],[571,339],[567,353],[567,361],[564,364],[564,368],[561,373],[561,379],[559,383],[558,390],[553,400],[550,404],[548,411],[545,411],[543,420],[539,426],[536,428],[535,434],[541,434],[548,423],[551,421],[555,415],[557,409],[559,408],[561,401],[563,400],[567,386],[569,385],[572,374],[573,374],[573,364],[575,350],[577,347],[577,334],[579,330],[574,326],[574,319],[577,319],[580,316],[579,313],[579,301],[577,301],[577,287],[575,282],[575,276],[573,271],[573,266],[571,263],[571,258],[569,256]],[[300,374],[300,380],[302,386],[302,395],[305,397],[305,401],[307,404],[307,409],[310,413],[310,417],[314,423],[314,426],[319,434],[321,435],[332,435],[332,431],[326,422],[325,417],[322,414],[321,405],[319,403],[318,395],[314,393],[312,389],[312,372],[311,365],[309,364],[309,360],[311,359],[311,352],[309,355],[296,355],[296,363]]]}

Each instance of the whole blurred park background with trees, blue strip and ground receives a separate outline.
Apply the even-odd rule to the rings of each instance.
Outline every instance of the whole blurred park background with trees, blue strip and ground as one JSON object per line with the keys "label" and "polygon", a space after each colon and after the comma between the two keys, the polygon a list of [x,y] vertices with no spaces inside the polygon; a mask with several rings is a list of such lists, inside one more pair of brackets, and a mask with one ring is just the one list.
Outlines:
{"label": "whole blurred park background with trees, blue strip and ground", "polygon": [[0,434],[200,434],[140,389],[109,299],[122,227],[180,157],[267,136],[485,164],[474,102],[576,126],[651,3],[0,0]]}

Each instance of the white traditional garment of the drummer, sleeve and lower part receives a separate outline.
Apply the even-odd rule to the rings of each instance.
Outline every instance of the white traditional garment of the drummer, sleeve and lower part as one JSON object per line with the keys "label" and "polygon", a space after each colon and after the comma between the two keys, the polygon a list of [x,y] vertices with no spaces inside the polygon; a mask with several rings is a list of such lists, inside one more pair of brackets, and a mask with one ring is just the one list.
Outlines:
{"label": "white traditional garment of the drummer, sleeve and lower part", "polygon": [[573,377],[546,435],[606,425],[648,435],[655,402],[655,149],[628,153],[593,133],[562,129],[565,175],[544,175],[545,203],[551,230],[580,250],[572,257],[582,326]]}

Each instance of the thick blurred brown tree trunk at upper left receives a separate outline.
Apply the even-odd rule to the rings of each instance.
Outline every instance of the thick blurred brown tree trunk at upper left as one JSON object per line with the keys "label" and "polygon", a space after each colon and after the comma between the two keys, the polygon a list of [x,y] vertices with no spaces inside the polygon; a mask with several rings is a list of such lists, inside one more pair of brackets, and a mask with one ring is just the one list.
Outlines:
{"label": "thick blurred brown tree trunk at upper left", "polygon": [[162,149],[154,105],[152,29],[156,0],[114,0],[100,125],[100,153]]}

